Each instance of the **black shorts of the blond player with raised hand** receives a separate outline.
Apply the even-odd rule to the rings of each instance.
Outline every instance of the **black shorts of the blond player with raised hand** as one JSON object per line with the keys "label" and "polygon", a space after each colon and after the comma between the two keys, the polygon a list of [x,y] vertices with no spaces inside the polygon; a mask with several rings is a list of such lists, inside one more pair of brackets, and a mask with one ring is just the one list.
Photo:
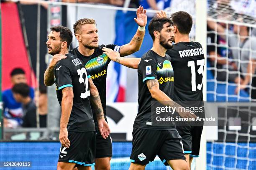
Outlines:
{"label": "black shorts of the blond player with raised hand", "polygon": [[109,135],[107,139],[104,139],[98,130],[98,124],[96,127],[96,158],[112,157],[112,138]]}

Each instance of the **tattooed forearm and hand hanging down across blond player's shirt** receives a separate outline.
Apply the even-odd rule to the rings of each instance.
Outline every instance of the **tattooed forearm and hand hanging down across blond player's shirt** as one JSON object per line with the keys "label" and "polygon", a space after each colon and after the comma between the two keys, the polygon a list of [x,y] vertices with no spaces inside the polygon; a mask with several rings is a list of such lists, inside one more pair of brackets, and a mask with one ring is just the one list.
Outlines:
{"label": "tattooed forearm and hand hanging down across blond player's shirt", "polygon": [[100,134],[104,139],[106,139],[110,133],[110,129],[108,127],[108,123],[105,121],[103,107],[100,101],[100,94],[92,79],[89,78],[88,81],[90,84],[90,101],[92,102],[93,108],[95,110]]}

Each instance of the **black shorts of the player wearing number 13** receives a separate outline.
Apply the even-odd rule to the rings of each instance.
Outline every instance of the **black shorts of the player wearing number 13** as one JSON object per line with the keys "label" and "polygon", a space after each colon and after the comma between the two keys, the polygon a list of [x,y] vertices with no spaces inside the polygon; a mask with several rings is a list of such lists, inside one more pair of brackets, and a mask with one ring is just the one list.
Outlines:
{"label": "black shorts of the player wearing number 13", "polygon": [[177,131],[182,137],[184,153],[190,157],[199,157],[200,141],[204,126],[177,126]]}

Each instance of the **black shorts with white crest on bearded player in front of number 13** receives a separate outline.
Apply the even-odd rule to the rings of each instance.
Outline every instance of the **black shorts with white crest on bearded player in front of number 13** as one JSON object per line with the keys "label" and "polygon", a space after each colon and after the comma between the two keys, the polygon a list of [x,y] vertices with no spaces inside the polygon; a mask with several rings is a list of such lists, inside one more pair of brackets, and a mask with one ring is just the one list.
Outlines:
{"label": "black shorts with white crest on bearded player in front of number 13", "polygon": [[177,130],[133,128],[131,162],[146,165],[158,155],[164,165],[168,165],[167,160],[186,160],[183,152]]}

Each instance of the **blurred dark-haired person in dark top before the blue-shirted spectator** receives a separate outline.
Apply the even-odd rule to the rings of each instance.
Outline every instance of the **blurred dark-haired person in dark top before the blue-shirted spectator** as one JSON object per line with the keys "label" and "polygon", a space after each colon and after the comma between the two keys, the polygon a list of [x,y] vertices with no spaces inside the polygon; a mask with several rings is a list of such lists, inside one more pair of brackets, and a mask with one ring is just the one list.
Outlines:
{"label": "blurred dark-haired person in dark top before the blue-shirted spectator", "polygon": [[36,127],[36,104],[29,96],[29,86],[26,83],[15,84],[12,91],[14,99],[22,103],[22,127]]}

